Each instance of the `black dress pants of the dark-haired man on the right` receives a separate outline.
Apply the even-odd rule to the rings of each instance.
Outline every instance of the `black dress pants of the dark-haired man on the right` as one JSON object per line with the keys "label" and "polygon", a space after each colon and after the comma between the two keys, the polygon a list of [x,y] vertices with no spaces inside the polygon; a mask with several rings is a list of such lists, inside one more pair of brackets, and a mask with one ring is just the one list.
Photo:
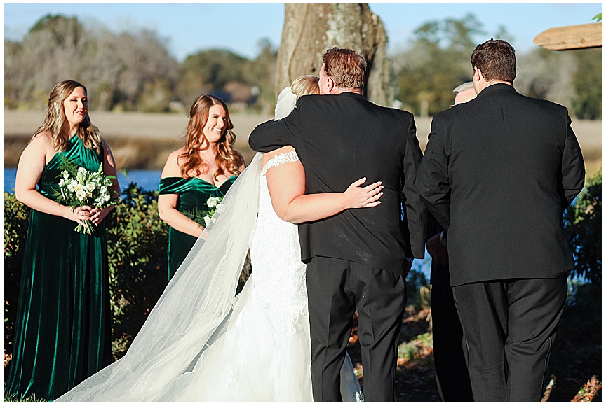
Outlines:
{"label": "black dress pants of the dark-haired man on the right", "polygon": [[540,402],[567,277],[454,286],[476,402]]}

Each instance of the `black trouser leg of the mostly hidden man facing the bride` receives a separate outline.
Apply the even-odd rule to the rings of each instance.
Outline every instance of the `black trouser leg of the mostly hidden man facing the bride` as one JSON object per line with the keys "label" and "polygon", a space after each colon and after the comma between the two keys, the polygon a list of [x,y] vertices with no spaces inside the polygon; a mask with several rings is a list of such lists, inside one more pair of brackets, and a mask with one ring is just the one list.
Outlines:
{"label": "black trouser leg of the mostly hidden man facing the bride", "polygon": [[463,329],[454,307],[448,265],[431,261],[433,364],[443,402],[473,402],[463,346]]}

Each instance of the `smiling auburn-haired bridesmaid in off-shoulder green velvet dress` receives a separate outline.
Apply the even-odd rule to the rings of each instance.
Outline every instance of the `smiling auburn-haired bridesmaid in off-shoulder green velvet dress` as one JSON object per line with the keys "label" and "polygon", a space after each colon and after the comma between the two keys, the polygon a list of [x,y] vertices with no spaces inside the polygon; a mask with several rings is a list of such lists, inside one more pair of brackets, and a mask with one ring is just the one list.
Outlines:
{"label": "smiling auburn-haired bridesmaid in off-shoulder green velvet dress", "polygon": [[[227,105],[202,94],[189,109],[185,146],[168,156],[159,184],[158,211],[168,229],[168,279],[194,246],[204,224],[191,214],[208,211],[209,197],[223,197],[244,170]],[[188,216],[189,215],[189,216]]]}

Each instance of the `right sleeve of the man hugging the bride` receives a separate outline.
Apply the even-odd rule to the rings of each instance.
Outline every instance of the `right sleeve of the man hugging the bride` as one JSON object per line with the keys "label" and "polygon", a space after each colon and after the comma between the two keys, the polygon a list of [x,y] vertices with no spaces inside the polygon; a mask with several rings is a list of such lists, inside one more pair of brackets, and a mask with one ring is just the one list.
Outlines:
{"label": "right sleeve of the man hugging the bride", "polygon": [[415,118],[411,114],[406,134],[406,151],[403,158],[403,207],[406,225],[408,226],[410,250],[414,258],[425,257],[426,210],[417,188],[415,188],[415,177],[422,158],[423,154],[421,148],[419,148]]}

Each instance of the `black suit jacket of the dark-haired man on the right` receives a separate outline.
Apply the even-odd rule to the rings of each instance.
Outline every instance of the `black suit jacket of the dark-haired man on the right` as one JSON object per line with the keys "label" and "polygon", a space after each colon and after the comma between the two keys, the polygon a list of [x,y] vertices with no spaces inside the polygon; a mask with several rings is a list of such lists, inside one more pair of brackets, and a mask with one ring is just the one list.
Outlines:
{"label": "black suit jacket of the dark-haired man on the right", "polygon": [[452,286],[570,271],[562,211],[584,178],[564,106],[499,83],[434,116],[416,186],[448,231]]}

